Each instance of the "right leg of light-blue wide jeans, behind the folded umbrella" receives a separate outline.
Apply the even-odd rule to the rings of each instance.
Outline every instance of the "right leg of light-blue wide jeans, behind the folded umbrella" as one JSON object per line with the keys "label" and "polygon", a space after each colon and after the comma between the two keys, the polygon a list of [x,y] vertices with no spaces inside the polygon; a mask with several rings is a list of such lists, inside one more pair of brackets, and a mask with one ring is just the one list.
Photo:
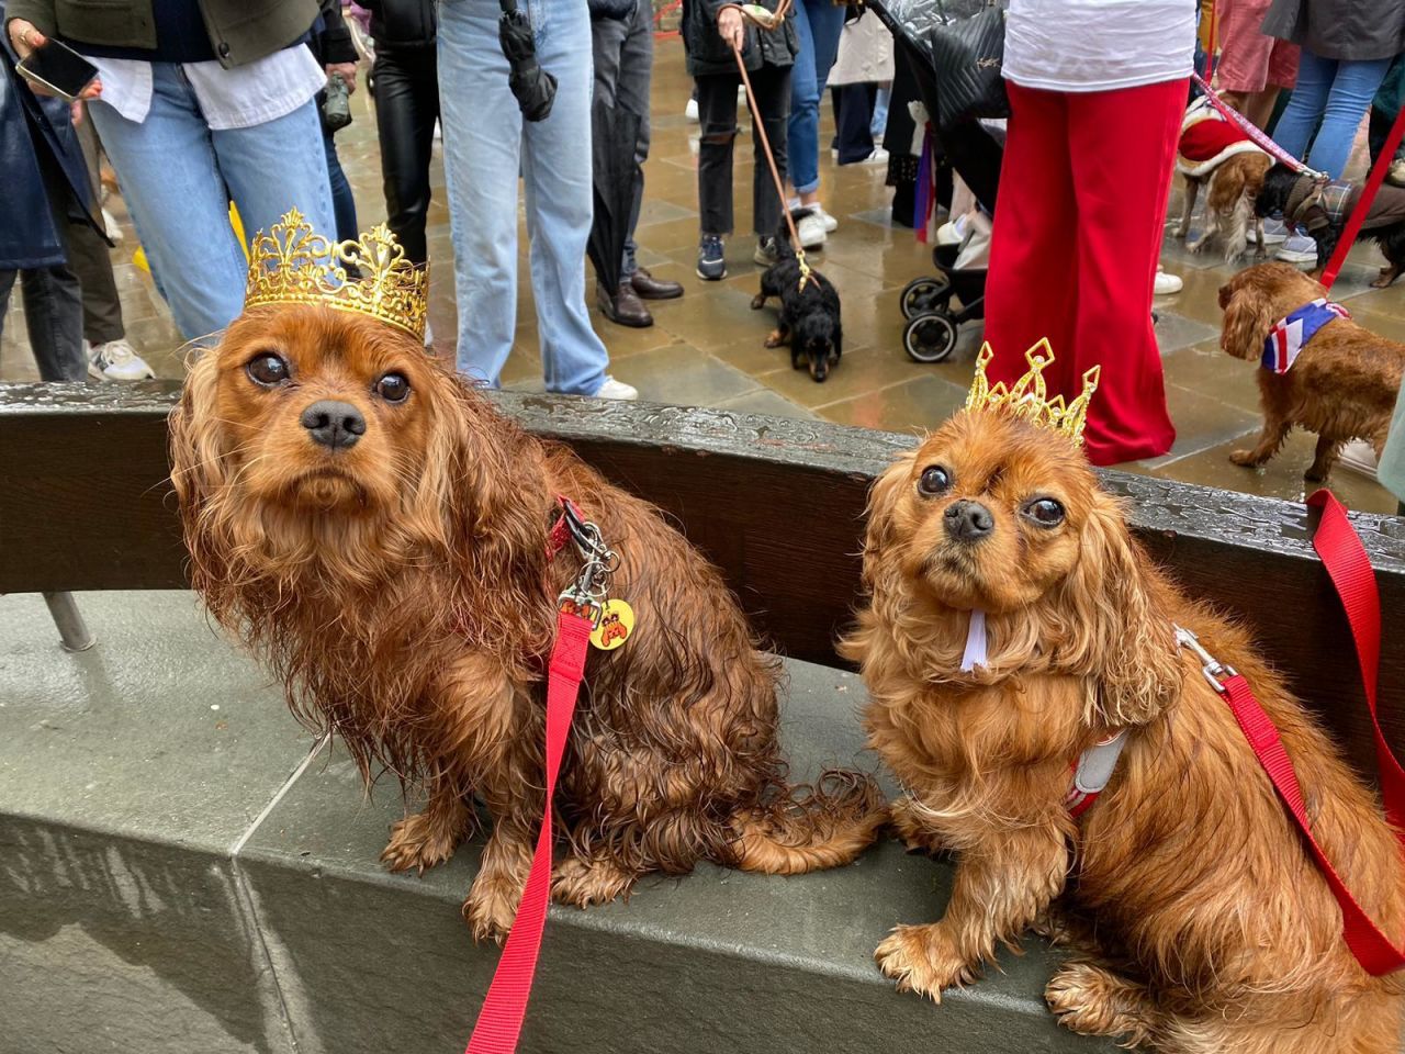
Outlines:
{"label": "right leg of light-blue wide jeans, behind the folded umbrella", "polygon": [[[545,121],[523,132],[531,287],[547,391],[594,395],[610,356],[586,312],[590,188],[590,15],[579,0],[532,4],[537,58],[556,77]],[[495,41],[496,44],[496,41]]]}

